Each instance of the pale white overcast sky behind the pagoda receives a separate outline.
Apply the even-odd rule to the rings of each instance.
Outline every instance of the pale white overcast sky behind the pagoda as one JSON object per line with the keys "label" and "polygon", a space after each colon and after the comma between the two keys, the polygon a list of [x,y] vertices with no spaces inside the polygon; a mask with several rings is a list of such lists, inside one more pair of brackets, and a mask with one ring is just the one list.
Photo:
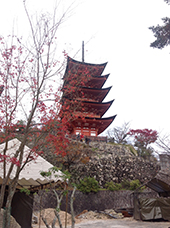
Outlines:
{"label": "pale white overcast sky behind the pagoda", "polygon": [[[27,0],[32,14],[50,12],[54,2]],[[59,51],[81,61],[84,40],[85,62],[108,62],[105,87],[113,87],[106,101],[115,101],[105,116],[117,114],[111,127],[130,121],[133,129],[170,133],[170,48],[150,48],[154,36],[148,29],[170,17],[170,6],[163,0],[63,0],[59,13],[71,2],[73,11],[58,35]],[[22,0],[1,3],[0,35],[10,34],[13,27],[17,34],[27,34]]]}

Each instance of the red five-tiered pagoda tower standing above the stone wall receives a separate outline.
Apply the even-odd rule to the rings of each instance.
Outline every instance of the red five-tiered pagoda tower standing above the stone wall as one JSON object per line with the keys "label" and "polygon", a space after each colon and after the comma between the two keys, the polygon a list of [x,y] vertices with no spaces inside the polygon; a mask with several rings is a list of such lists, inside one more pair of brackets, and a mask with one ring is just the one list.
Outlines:
{"label": "red five-tiered pagoda tower standing above the stone wall", "polygon": [[98,136],[115,119],[116,115],[102,118],[114,101],[103,102],[111,89],[102,88],[109,76],[102,76],[106,64],[89,64],[68,57],[62,100],[72,115],[69,121],[70,134]]}

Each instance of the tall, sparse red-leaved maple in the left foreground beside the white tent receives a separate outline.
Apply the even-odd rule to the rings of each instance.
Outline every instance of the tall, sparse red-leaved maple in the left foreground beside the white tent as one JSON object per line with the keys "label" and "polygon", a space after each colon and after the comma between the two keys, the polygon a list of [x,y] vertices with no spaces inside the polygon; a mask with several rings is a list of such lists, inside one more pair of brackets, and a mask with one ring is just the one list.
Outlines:
{"label": "tall, sparse red-leaved maple in the left foreground beside the white tent", "polygon": [[[24,8],[31,28],[29,46],[14,35],[0,37],[0,143],[4,143],[0,151],[3,177],[0,208],[6,208],[6,228],[10,226],[11,202],[24,166],[36,161],[41,154],[40,145],[47,147],[50,143],[54,153],[65,156],[69,143],[65,136],[71,114],[60,110],[61,88],[57,82],[57,78],[62,76],[64,63],[55,60],[54,55],[58,27],[67,12],[56,21],[55,9],[53,17],[43,14],[34,23],[25,1]],[[9,141],[15,137],[20,138],[20,145],[13,154],[8,154]],[[25,146],[30,143],[31,149],[24,154]],[[13,170],[15,175],[10,179]],[[4,205],[7,186],[8,196]]]}

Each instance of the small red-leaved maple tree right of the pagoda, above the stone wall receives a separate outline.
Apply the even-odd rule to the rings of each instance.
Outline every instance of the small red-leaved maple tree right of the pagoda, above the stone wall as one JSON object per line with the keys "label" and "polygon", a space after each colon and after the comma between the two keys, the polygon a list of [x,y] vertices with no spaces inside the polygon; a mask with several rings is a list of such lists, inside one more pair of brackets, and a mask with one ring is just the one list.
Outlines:
{"label": "small red-leaved maple tree right of the pagoda, above the stone wall", "polygon": [[128,134],[134,137],[134,146],[137,147],[138,155],[147,158],[153,153],[150,144],[156,142],[158,132],[152,129],[131,129]]}

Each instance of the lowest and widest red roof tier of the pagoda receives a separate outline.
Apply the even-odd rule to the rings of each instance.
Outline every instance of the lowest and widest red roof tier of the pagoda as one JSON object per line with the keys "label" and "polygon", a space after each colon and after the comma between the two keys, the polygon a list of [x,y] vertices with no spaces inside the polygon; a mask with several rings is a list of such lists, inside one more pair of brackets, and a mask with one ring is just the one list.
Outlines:
{"label": "lowest and widest red roof tier of the pagoda", "polygon": [[91,127],[98,129],[98,135],[101,134],[116,118],[117,115],[106,117],[106,118],[91,118],[85,117],[85,119],[77,119],[73,121],[74,127]]}

